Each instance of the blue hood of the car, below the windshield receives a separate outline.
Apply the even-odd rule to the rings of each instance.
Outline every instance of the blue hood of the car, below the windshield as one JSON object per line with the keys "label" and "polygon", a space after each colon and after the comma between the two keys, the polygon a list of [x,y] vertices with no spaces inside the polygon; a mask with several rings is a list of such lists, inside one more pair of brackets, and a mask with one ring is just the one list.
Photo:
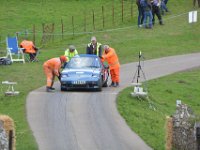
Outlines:
{"label": "blue hood of the car, below the windshield", "polygon": [[100,74],[100,68],[88,68],[88,69],[64,69],[62,75],[67,75],[67,77],[92,77],[94,75]]}

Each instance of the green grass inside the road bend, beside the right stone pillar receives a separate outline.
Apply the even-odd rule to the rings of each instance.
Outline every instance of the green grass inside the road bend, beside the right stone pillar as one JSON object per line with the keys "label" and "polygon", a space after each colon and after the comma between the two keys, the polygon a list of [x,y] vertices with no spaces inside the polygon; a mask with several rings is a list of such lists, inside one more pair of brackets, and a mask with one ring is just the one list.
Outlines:
{"label": "green grass inside the road bend, beside the right stone pillar", "polygon": [[176,100],[187,104],[200,115],[200,69],[180,72],[148,82],[150,100],[156,111],[149,108],[147,100],[131,97],[133,87],[123,90],[117,98],[118,110],[128,125],[153,149],[165,149],[166,116],[176,111]]}

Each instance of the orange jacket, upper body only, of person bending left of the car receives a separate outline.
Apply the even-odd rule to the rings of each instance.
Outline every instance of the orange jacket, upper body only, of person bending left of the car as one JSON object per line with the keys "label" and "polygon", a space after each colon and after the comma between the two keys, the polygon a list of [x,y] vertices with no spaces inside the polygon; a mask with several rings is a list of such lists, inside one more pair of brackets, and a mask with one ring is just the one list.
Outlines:
{"label": "orange jacket, upper body only, of person bending left of the car", "polygon": [[47,60],[43,66],[48,67],[48,69],[51,70],[54,75],[59,76],[61,65],[62,63],[60,61],[60,58],[52,58]]}

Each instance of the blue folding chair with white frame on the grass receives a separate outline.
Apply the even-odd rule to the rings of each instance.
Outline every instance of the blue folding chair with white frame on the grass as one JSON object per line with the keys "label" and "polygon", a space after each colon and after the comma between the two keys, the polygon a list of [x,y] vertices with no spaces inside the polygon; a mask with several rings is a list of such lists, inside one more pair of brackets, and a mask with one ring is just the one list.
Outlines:
{"label": "blue folding chair with white frame on the grass", "polygon": [[23,62],[25,63],[24,53],[21,48],[18,47],[17,37],[7,37],[7,56],[10,57],[11,62]]}

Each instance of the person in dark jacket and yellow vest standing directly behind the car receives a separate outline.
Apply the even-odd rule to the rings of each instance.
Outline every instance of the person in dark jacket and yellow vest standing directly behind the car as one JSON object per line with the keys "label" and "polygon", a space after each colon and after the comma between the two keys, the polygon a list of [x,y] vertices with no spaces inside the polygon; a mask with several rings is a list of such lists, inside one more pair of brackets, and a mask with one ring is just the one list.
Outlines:
{"label": "person in dark jacket and yellow vest standing directly behind the car", "polygon": [[95,36],[91,38],[91,42],[86,47],[86,54],[93,54],[99,57],[102,56],[102,44],[97,42]]}

